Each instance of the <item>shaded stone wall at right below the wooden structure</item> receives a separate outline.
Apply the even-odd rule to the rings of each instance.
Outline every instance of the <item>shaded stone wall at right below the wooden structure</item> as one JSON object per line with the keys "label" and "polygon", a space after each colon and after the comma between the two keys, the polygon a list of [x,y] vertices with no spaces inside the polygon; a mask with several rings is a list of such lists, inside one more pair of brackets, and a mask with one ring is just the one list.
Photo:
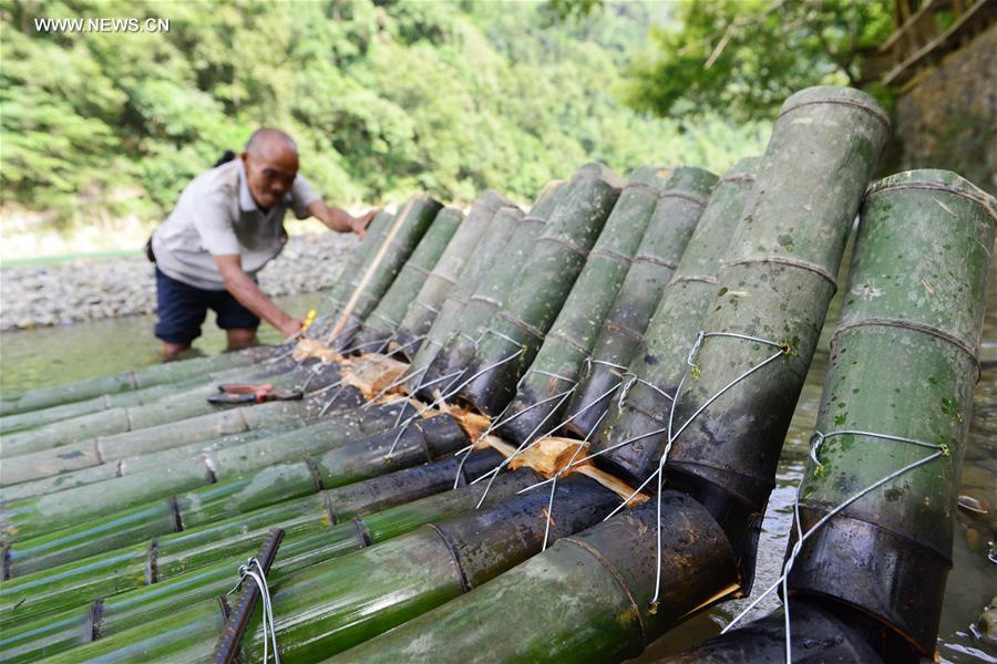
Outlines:
{"label": "shaded stone wall at right below the wooden structure", "polygon": [[997,24],[897,100],[901,168],[947,168],[997,195]]}

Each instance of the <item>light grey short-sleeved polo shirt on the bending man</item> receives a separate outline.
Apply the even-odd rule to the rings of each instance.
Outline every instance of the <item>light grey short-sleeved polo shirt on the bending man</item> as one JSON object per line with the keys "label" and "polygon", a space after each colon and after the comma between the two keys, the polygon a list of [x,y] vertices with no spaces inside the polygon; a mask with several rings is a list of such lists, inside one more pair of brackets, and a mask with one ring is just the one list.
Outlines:
{"label": "light grey short-sleeved polo shirt on the bending man", "polygon": [[225,290],[215,256],[238,253],[243,270],[255,277],[284,249],[284,214],[298,219],[319,200],[300,175],[287,198],[264,211],[246,184],[241,159],[212,168],[183,190],[176,208],[153,234],[156,264],[167,276],[205,290]]}

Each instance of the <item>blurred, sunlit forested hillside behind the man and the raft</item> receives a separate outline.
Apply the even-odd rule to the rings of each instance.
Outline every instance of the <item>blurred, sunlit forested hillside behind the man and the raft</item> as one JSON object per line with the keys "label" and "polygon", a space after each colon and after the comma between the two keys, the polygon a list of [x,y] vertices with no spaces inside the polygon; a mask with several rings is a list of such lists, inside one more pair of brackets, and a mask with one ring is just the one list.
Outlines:
{"label": "blurred, sunlit forested hillside behind the man and the raft", "polygon": [[[158,218],[268,124],[342,204],[486,186],[530,199],[587,159],[722,169],[764,125],[682,127],[618,100],[662,3],[555,23],[541,2],[0,1],[0,197],[59,222]],[[38,18],[168,19],[168,32],[47,32]]]}

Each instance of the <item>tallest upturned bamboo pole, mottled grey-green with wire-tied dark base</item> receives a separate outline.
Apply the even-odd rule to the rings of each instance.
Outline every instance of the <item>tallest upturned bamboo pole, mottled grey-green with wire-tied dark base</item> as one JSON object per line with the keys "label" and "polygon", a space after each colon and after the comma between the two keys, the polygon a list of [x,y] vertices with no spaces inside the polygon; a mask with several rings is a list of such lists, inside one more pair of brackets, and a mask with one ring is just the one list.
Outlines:
{"label": "tallest upturned bamboo pole, mottled grey-green with wire-tied dark base", "polygon": [[[688,480],[693,495],[723,487],[731,500],[764,513],[844,243],[888,135],[883,108],[850,87],[810,87],[783,104],[702,330],[771,340],[785,352],[726,393],[719,407],[707,407],[671,447],[672,475]],[[677,422],[771,351],[707,338],[696,376],[676,396]],[[773,403],[778,416],[751,415]]]}

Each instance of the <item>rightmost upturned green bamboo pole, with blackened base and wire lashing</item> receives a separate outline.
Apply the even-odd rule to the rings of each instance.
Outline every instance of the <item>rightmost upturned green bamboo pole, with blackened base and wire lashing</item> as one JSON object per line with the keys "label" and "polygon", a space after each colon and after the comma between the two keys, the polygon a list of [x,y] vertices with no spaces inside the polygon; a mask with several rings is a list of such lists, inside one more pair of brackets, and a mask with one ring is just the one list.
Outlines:
{"label": "rightmost upturned green bamboo pole, with blackened base and wire lashing", "polygon": [[[832,340],[816,423],[826,437],[800,487],[799,527],[806,532],[856,491],[941,455],[837,511],[804,541],[790,575],[792,598],[830,598],[898,633],[880,653],[890,661],[935,653],[979,380],[995,203],[945,170],[870,187]],[[904,652],[911,646],[915,653]]]}

